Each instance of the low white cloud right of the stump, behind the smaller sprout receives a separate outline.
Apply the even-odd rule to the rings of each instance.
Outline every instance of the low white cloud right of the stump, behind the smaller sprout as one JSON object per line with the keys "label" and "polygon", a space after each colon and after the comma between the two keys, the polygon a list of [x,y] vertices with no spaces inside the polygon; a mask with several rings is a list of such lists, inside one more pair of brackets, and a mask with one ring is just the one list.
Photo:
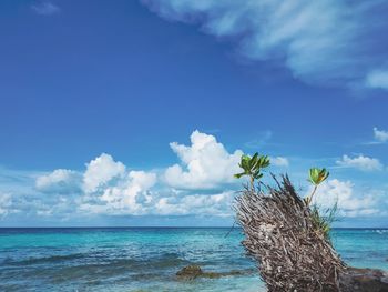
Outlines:
{"label": "low white cloud right of the stump, behind the smaller sprout", "polygon": [[[312,192],[313,187],[309,190]],[[372,195],[357,198],[354,194],[354,183],[350,181],[329,180],[318,187],[315,202],[326,209],[338,203],[338,209],[344,215],[355,217],[363,214],[375,214],[378,212],[376,200]]]}

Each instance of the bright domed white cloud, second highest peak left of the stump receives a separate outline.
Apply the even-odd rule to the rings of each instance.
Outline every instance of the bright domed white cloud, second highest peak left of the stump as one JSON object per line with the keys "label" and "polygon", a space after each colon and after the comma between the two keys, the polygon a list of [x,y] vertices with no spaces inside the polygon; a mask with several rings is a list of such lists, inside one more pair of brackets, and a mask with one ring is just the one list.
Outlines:
{"label": "bright domed white cloud, second highest peak left of the stump", "polygon": [[124,172],[125,165],[123,163],[115,162],[111,155],[102,153],[86,164],[83,188],[85,192],[95,192],[112,179],[123,175]]}

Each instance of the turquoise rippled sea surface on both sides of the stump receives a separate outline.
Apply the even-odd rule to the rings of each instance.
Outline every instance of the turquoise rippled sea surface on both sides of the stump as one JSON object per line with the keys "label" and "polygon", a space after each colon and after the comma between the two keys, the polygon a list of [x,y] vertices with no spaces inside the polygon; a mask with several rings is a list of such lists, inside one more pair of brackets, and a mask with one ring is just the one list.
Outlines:
{"label": "turquoise rippled sea surface on both sides of the stump", "polygon": [[[239,229],[0,229],[0,291],[265,291]],[[338,229],[333,241],[355,266],[388,270],[388,230]],[[177,280],[185,265],[242,271]]]}

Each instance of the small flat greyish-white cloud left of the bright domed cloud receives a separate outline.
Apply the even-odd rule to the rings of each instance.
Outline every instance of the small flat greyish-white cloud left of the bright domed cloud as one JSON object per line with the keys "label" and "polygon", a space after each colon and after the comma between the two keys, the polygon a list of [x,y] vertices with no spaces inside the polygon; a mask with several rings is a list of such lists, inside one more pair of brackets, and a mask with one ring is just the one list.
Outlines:
{"label": "small flat greyish-white cloud left of the bright domed cloud", "polygon": [[58,169],[38,177],[35,188],[45,193],[79,193],[81,183],[82,177],[79,172]]}

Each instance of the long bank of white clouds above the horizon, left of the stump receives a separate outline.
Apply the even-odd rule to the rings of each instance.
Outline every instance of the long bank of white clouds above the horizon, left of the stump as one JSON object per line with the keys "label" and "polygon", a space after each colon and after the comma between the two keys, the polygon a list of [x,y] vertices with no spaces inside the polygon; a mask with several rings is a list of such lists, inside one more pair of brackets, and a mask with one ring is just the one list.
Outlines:
{"label": "long bank of white clouds above the horizon, left of the stump", "polygon": [[[229,153],[214,135],[194,131],[191,145],[172,142],[178,163],[133,170],[102,153],[83,171],[35,175],[27,190],[1,193],[0,215],[231,215],[241,150]],[[33,188],[29,189],[33,181]],[[31,185],[30,185],[31,187]],[[232,189],[231,189],[232,188]]]}

